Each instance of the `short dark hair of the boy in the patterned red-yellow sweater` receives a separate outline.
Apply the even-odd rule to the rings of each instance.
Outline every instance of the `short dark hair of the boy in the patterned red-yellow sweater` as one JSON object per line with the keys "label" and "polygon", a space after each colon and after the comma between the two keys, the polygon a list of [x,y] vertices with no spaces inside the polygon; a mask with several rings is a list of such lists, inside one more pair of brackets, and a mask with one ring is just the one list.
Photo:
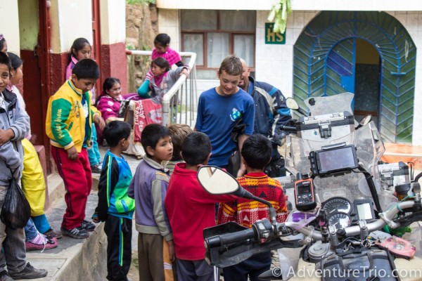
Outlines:
{"label": "short dark hair of the boy in the patterned red-yellow sweater", "polygon": [[250,168],[264,169],[271,160],[271,152],[271,141],[258,133],[246,139],[241,155]]}

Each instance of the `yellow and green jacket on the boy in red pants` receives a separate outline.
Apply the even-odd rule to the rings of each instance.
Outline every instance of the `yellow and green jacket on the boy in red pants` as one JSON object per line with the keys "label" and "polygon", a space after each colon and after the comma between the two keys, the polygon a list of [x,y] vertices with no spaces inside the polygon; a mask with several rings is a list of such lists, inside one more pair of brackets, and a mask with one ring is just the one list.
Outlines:
{"label": "yellow and green jacket on the boy in red pants", "polygon": [[[82,96],[87,100],[89,108],[89,126],[85,131],[85,115]],[[82,93],[75,88],[71,79],[65,81],[58,91],[49,98],[46,117],[46,134],[51,145],[68,150],[75,145],[77,152],[81,152],[87,135],[87,147],[91,146],[91,126],[95,115],[100,115],[94,105],[91,105],[91,91]]]}

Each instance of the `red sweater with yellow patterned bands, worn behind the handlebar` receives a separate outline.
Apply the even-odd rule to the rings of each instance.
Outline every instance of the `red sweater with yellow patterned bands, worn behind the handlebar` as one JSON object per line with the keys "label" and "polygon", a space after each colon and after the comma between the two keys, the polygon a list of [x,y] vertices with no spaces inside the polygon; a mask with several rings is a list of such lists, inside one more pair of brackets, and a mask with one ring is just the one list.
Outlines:
{"label": "red sweater with yellow patterned bands, worn behind the handlebar", "polygon": [[[277,222],[282,223],[287,218],[286,197],[279,181],[269,178],[264,173],[250,173],[236,178],[238,183],[252,195],[269,201],[277,213]],[[241,226],[251,228],[255,221],[269,218],[268,206],[257,201],[237,198],[234,202],[220,204],[217,223],[235,221]]]}

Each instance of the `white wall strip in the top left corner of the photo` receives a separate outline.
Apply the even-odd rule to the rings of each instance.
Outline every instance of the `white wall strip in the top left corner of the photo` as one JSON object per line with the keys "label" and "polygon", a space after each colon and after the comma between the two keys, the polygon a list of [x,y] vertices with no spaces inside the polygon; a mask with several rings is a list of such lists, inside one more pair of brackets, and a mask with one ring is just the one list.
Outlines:
{"label": "white wall strip in the top left corner of the photo", "polygon": [[0,1],[0,34],[6,38],[8,51],[20,53],[18,0]]}

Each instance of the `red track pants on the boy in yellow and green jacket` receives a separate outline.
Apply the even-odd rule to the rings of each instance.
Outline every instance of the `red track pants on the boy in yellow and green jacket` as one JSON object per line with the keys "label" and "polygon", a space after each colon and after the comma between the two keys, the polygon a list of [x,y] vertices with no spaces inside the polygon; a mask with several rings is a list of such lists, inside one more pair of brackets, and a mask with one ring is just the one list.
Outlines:
{"label": "red track pants on the boy in yellow and green jacket", "polygon": [[58,169],[58,174],[65,184],[66,212],[63,216],[62,228],[68,230],[81,226],[85,218],[87,198],[92,187],[91,166],[86,148],[82,148],[76,160],[68,158],[63,148],[51,146],[51,155]]}

